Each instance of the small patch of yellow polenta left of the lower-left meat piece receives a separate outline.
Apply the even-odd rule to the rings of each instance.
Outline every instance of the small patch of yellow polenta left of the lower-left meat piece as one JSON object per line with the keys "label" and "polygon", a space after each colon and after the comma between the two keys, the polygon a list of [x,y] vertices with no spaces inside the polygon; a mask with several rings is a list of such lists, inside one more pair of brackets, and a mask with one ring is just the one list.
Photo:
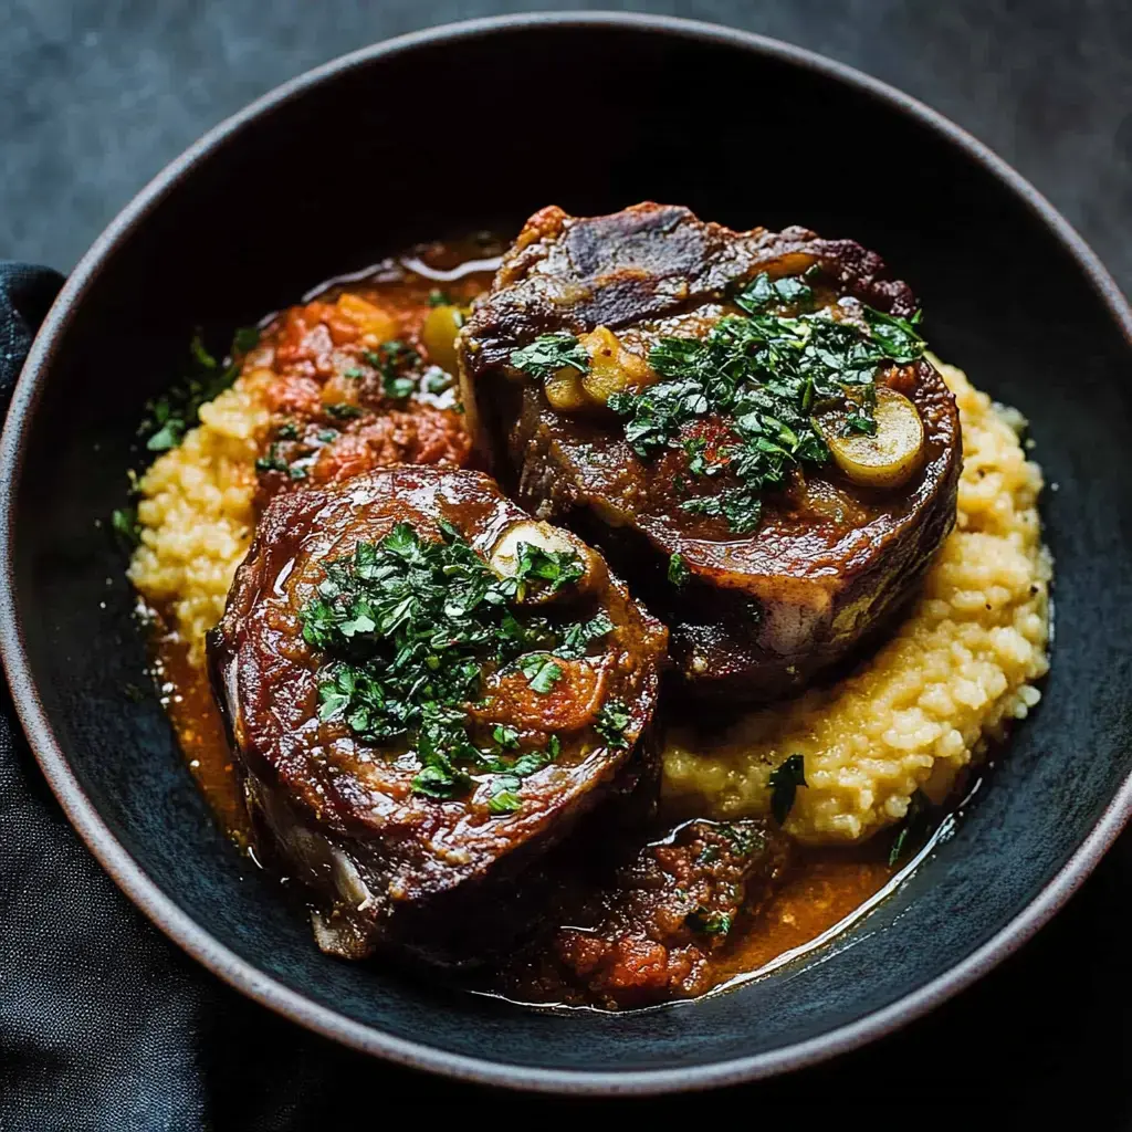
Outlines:
{"label": "small patch of yellow polenta left of the lower-left meat piece", "polygon": [[130,581],[188,644],[196,664],[251,541],[257,440],[267,420],[252,371],[201,405],[199,426],[138,483],[142,540]]}

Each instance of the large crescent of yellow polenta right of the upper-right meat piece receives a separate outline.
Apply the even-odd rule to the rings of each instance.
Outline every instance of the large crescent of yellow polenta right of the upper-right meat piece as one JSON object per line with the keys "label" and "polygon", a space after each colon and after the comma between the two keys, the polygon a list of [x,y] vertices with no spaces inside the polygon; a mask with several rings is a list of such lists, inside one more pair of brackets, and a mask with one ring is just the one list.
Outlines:
{"label": "large crescent of yellow polenta right of the upper-right meat piece", "polygon": [[955,530],[909,617],[854,675],[753,712],[719,738],[670,736],[668,797],[719,817],[770,809],[767,779],[805,758],[787,832],[846,842],[900,821],[923,789],[942,801],[959,772],[1040,697],[1048,668],[1050,563],[1041,547],[1041,474],[1017,421],[958,369],[963,470]]}

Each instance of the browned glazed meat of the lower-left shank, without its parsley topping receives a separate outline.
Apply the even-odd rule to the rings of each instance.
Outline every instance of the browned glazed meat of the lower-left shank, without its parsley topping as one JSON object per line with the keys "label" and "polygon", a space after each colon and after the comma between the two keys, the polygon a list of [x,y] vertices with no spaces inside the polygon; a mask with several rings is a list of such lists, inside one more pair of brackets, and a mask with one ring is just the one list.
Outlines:
{"label": "browned glazed meat of the lower-left shank, without its parsley topping", "polygon": [[[303,640],[301,610],[328,560],[401,523],[429,541],[451,524],[487,557],[524,522],[480,473],[388,469],[277,497],[237,573],[209,637],[217,698],[250,806],[317,893],[316,936],[328,951],[357,958],[383,945],[430,962],[483,958],[524,919],[513,891],[522,885],[507,878],[646,769],[645,745],[635,751],[652,717],[664,631],[592,552],[576,593],[556,601],[576,602],[585,617],[604,612],[612,631],[584,658],[563,661],[549,693],[499,672],[486,698],[468,705],[470,729],[514,727],[524,747],[559,737],[560,754],[523,779],[517,812],[491,812],[488,774],[473,773],[465,796],[426,797],[413,787],[412,752],[377,747],[343,719],[319,717],[325,658]],[[621,743],[594,726],[614,701],[628,717]]]}

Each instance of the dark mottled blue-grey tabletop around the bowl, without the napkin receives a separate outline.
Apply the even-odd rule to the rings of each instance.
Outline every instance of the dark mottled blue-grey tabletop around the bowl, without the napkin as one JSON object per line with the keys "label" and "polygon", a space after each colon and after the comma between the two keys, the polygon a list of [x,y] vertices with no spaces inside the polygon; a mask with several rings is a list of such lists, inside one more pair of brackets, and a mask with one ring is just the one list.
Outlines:
{"label": "dark mottled blue-grey tabletop around the bowl, without the napkin", "polygon": [[[70,268],[166,161],[224,115],[308,67],[429,24],[543,7],[610,5],[9,0],[0,8],[0,257]],[[747,27],[902,87],[1032,180],[1132,292],[1132,6],[714,0],[623,7]],[[491,76],[470,76],[470,97],[477,80]],[[565,100],[568,92],[554,96]],[[823,128],[839,127],[815,123],[815,130]],[[887,160],[878,145],[878,165]],[[285,175],[285,169],[264,170],[265,190],[271,178]],[[454,163],[454,194],[460,177]],[[835,183],[830,188],[837,191]],[[1082,736],[1082,756],[1087,753]],[[1132,962],[1123,932],[1129,892],[1132,835],[1126,834],[1069,908],[981,984],[869,1049],[749,1087],[741,1098],[751,1106],[749,1118],[760,1118],[763,1103],[808,1107],[829,1098],[872,1109],[886,1123],[918,1124],[950,1110],[970,1120],[971,1106],[994,1096],[1012,1108],[1012,1124],[1028,1120],[1044,1127],[1052,1098],[1060,1097],[1075,1100],[1094,1124],[1123,1126],[1132,1115]],[[121,915],[137,914],[123,900]],[[166,946],[151,934],[154,949]],[[484,1120],[547,1104],[426,1081],[340,1052],[213,987],[211,976],[188,960],[172,962],[186,981],[208,985],[221,1003],[218,1032],[211,1047],[205,1044],[199,1066],[213,1095],[200,1113],[205,1126],[331,1126],[335,1117],[349,1118],[359,1099],[377,1105],[369,1109],[377,1120],[383,1109],[375,1096],[395,1098],[396,1108],[453,1098]],[[79,977],[76,1011],[82,995]],[[170,1011],[168,1022],[158,1017],[155,1024],[182,1023]],[[3,1041],[0,1032],[0,1058]],[[281,1048],[290,1054],[286,1073],[274,1061]],[[105,1053],[115,1054],[113,1034],[106,1035]],[[131,1091],[128,1057],[121,1077],[134,1116],[123,1115],[119,1126],[183,1126],[164,1121],[158,1114],[166,1106],[145,1096],[140,1084]],[[723,1099],[688,1097],[655,1107],[681,1120],[714,1121]],[[385,1108],[384,1115],[393,1110]],[[41,1126],[57,1126],[44,1117]],[[6,1129],[3,1120],[0,1108]]]}

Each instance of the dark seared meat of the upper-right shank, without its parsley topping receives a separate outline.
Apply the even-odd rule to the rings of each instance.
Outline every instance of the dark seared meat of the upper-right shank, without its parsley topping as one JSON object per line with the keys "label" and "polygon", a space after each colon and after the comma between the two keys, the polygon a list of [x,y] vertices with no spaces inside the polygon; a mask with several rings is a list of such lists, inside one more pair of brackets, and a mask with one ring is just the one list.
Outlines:
{"label": "dark seared meat of the upper-right shank, without its parsley topping", "polygon": [[[847,300],[908,316],[909,288],[875,254],[800,228],[732,232],[688,209],[643,204],[611,216],[537,213],[478,300],[461,340],[465,400],[474,387],[481,443],[505,451],[516,496],[606,550],[671,632],[685,685],[767,700],[804,687],[881,628],[909,597],[954,523],[960,471],[954,398],[927,361],[892,366],[880,384],[902,393],[924,426],[920,465],[894,489],[860,487],[835,465],[796,473],[769,492],[752,534],[689,514],[680,446],[644,460],[607,410],[563,413],[509,368],[512,351],[549,333],[607,327],[642,357],[659,335],[702,336],[734,309],[736,285],[817,265],[823,302]],[[713,431],[714,430],[714,431]],[[702,418],[679,440],[726,444],[727,423]],[[722,440],[720,440],[722,437]],[[697,483],[718,491],[726,474]],[[679,555],[688,578],[667,578]]]}

